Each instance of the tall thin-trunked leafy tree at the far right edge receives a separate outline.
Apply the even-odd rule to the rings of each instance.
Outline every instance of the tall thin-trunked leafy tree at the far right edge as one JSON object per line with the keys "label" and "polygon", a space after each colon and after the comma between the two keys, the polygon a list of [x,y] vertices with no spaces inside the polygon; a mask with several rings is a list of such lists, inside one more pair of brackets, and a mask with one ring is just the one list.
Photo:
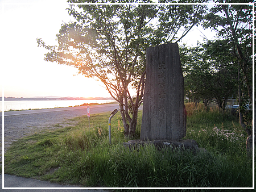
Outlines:
{"label": "tall thin-trunked leafy tree at the far right edge", "polygon": [[[217,0],[218,3],[231,3],[230,0]],[[240,1],[240,3],[253,3],[253,1]],[[218,31],[218,36],[230,44],[229,52],[239,66],[238,78],[240,88],[238,90],[240,103],[240,124],[246,128],[248,135],[251,128],[243,123],[243,115],[246,101],[249,98],[253,102],[253,4],[251,5],[216,5],[209,10],[205,17],[205,28]],[[245,89],[242,89],[243,87]]]}

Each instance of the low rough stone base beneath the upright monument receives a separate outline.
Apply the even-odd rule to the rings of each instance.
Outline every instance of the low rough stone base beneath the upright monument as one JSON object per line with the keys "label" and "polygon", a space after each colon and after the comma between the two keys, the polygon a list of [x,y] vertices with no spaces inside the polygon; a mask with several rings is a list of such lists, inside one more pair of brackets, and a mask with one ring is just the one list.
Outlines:
{"label": "low rough stone base beneath the upright monument", "polygon": [[180,140],[180,141],[168,141],[168,140],[154,140],[154,141],[142,141],[142,140],[130,140],[127,143],[123,143],[125,147],[129,147],[130,149],[138,149],[139,147],[146,144],[154,144],[156,149],[162,150],[163,148],[171,148],[171,149],[180,149],[191,150],[194,154],[201,152],[205,152],[204,148],[199,148],[196,141],[192,139]]}

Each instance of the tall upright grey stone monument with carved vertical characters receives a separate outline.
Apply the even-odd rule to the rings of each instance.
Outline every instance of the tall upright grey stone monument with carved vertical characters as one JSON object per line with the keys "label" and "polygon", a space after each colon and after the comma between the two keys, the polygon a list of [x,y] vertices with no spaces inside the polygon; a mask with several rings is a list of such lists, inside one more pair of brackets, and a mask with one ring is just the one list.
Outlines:
{"label": "tall upright grey stone monument with carved vertical characters", "polygon": [[179,141],[186,135],[184,80],[177,43],[149,47],[141,140]]}

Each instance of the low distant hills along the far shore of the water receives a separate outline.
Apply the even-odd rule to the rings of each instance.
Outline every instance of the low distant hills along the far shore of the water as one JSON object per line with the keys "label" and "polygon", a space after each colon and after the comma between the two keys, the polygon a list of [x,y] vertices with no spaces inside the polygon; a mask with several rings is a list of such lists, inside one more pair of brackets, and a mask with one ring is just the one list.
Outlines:
{"label": "low distant hills along the far shore of the water", "polygon": [[[4,97],[5,101],[47,101],[47,100],[114,100],[112,97],[60,97],[60,98],[49,98],[49,97]],[[0,97],[2,101],[2,97]]]}

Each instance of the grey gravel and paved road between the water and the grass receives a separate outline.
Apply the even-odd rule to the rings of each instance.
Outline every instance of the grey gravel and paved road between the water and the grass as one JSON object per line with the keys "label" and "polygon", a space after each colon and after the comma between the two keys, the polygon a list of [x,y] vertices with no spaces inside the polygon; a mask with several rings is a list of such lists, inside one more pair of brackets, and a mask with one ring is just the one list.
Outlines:
{"label": "grey gravel and paved road between the water and the grass", "polygon": [[[90,114],[113,111],[118,104],[90,106]],[[13,141],[57,126],[70,126],[69,119],[86,115],[86,107],[51,108],[46,110],[10,111],[4,113],[5,151]],[[2,114],[0,115],[2,127]],[[74,122],[72,122],[74,123]],[[56,126],[57,124],[57,126]],[[1,130],[2,144],[2,130]],[[2,161],[2,146],[0,149]]]}

